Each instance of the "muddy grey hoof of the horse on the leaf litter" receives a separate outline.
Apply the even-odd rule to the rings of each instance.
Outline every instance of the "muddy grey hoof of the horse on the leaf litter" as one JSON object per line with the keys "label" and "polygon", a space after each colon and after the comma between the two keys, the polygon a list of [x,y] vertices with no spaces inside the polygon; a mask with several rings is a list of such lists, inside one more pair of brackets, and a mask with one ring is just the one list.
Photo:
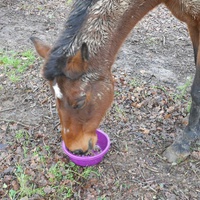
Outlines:
{"label": "muddy grey hoof of the horse on the leaf litter", "polygon": [[190,145],[173,143],[163,153],[163,156],[171,163],[180,163],[190,155]]}

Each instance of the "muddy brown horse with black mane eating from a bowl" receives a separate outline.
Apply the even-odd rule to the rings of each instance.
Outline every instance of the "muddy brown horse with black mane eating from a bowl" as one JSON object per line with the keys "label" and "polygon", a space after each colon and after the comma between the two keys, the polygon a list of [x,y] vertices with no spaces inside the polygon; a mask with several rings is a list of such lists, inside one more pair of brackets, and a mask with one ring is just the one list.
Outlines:
{"label": "muddy brown horse with black mane eating from a bowl", "polygon": [[45,59],[43,75],[53,88],[62,138],[73,152],[94,147],[96,128],[113,100],[111,66],[136,23],[164,3],[188,25],[196,74],[192,85],[189,123],[164,156],[185,159],[200,138],[200,1],[196,0],[76,0],[62,35],[51,48],[32,37]]}

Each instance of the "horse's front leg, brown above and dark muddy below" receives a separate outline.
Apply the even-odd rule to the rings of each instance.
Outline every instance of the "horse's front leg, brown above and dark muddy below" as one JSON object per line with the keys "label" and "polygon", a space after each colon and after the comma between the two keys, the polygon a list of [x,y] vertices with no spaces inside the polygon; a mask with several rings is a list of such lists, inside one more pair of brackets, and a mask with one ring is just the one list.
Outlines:
{"label": "horse's front leg, brown above and dark muddy below", "polygon": [[194,48],[196,73],[191,89],[192,106],[189,122],[183,134],[169,146],[164,157],[169,162],[179,163],[190,155],[192,144],[200,139],[200,34],[198,27],[189,27],[190,36]]}

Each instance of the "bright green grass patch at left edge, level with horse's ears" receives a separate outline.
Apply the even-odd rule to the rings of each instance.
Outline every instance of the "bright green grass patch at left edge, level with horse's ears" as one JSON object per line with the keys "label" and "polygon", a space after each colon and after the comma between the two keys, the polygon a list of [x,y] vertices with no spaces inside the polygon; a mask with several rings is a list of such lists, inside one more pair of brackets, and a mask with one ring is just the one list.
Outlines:
{"label": "bright green grass patch at left edge, level with horse's ears", "polygon": [[0,50],[0,68],[8,79],[14,83],[21,80],[23,72],[35,61],[33,51],[24,52],[1,51]]}

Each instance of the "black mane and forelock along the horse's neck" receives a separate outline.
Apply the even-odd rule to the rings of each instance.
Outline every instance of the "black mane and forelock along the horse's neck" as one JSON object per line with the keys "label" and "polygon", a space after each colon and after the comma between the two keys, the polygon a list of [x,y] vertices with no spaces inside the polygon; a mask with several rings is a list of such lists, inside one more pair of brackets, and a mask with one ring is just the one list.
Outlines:
{"label": "black mane and forelock along the horse's neck", "polygon": [[88,9],[97,1],[76,0],[73,4],[65,29],[51,50],[44,67],[44,77],[46,79],[53,80],[54,77],[63,75],[62,69],[66,66],[67,57],[77,50],[72,50],[72,45],[87,18]]}

